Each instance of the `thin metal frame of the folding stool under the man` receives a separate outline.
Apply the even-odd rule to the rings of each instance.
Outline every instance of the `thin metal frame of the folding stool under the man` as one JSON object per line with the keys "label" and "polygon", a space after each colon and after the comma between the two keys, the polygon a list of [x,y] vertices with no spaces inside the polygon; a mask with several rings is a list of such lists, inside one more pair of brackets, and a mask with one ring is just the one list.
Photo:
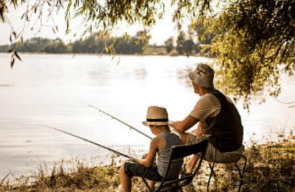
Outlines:
{"label": "thin metal frame of the folding stool under the man", "polygon": [[[239,159],[236,162],[234,162],[235,163],[234,166],[237,168],[237,171],[238,171],[239,182],[237,184],[233,184],[234,186],[238,187],[237,192],[239,192],[240,189],[241,189],[241,186],[243,185],[243,177],[244,177],[244,173],[245,173],[245,170],[246,170],[247,158],[243,154],[239,154],[239,153],[233,153],[233,152],[225,152],[225,153],[230,153],[230,155],[239,156]],[[244,161],[243,164],[242,164],[242,170],[240,169],[240,166],[238,165],[238,161],[241,160],[241,159]],[[207,182],[207,192],[209,191],[209,186],[210,186],[210,181],[211,181],[212,175],[214,176],[215,180],[216,180],[216,177],[217,177],[215,172],[214,172],[215,163],[230,164],[230,163],[224,163],[224,162],[211,162],[211,163],[209,163],[209,167],[210,167],[211,171],[210,171],[210,175],[209,175],[208,182]]]}

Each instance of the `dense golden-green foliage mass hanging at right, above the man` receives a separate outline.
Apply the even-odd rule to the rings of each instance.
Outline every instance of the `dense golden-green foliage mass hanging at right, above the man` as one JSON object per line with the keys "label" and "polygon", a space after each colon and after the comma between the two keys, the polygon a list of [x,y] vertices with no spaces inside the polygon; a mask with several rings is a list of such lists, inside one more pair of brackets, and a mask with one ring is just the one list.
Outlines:
{"label": "dense golden-green foliage mass hanging at right, above the man", "polygon": [[[201,36],[212,34],[217,55],[218,86],[244,98],[266,90],[280,93],[280,74],[295,68],[294,0],[236,0],[215,17],[197,20]],[[200,31],[200,30],[199,30]]]}

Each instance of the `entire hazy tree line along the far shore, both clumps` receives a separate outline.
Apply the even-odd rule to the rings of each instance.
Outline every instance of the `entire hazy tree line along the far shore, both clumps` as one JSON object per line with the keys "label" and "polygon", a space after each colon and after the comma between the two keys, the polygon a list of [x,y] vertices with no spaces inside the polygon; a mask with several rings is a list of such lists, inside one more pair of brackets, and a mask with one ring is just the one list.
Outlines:
{"label": "entire hazy tree line along the far shore, both clumps", "polygon": [[[200,26],[194,30],[200,31]],[[0,52],[15,50],[17,52],[38,52],[38,53],[116,53],[116,54],[142,54],[148,41],[142,40],[143,32],[139,31],[135,36],[106,37],[101,32],[91,34],[86,39],[79,39],[70,44],[64,44],[60,38],[48,39],[33,37],[23,44],[11,44],[0,46]],[[200,37],[193,40],[196,35],[186,37],[183,31],[179,32],[176,41],[169,37],[163,46],[168,54],[175,55],[195,55],[206,54],[208,50],[201,53],[202,46],[211,43],[211,36],[206,35],[205,39]],[[176,42],[176,46],[175,46]],[[155,48],[157,46],[150,47]]]}

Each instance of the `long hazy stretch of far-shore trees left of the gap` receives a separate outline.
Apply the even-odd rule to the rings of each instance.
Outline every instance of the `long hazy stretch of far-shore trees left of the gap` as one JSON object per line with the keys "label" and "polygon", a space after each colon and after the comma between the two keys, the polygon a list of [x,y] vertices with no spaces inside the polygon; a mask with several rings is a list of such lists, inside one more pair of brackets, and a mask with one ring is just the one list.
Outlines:
{"label": "long hazy stretch of far-shore trees left of the gap", "polygon": [[17,52],[39,53],[111,53],[116,54],[141,54],[146,42],[136,36],[106,37],[100,32],[91,34],[86,39],[76,40],[70,44],[64,44],[60,39],[48,39],[33,37],[23,44],[11,44],[0,46],[0,52],[15,50]]}

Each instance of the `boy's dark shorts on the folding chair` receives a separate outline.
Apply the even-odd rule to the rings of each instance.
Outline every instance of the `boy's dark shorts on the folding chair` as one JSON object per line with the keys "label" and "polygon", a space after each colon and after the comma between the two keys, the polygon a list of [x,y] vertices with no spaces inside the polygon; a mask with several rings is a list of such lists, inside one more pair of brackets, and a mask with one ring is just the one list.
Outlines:
{"label": "boy's dark shorts on the folding chair", "polygon": [[152,167],[145,167],[137,162],[126,161],[124,163],[124,170],[129,178],[133,176],[140,176],[152,181],[163,180],[163,177],[157,171],[157,165],[153,165]]}

